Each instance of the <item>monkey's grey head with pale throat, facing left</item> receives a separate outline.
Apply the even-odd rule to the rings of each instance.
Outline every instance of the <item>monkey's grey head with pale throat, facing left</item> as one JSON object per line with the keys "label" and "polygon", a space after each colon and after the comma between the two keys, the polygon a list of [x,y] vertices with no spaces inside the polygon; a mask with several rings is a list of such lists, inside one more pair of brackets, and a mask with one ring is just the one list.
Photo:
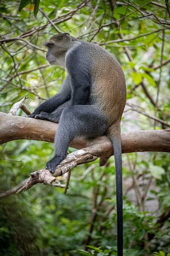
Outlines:
{"label": "monkey's grey head with pale throat, facing left", "polygon": [[65,66],[66,52],[72,47],[76,38],[69,33],[52,36],[44,45],[48,48],[46,59],[50,65]]}

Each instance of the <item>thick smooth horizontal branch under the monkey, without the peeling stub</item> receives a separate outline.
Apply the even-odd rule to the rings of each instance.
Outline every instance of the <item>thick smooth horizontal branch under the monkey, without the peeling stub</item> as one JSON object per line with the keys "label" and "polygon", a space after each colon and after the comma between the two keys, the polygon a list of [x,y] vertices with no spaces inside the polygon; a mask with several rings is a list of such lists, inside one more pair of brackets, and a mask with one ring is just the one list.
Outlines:
{"label": "thick smooth horizontal branch under the monkey, without the peeling stub", "polygon": [[[0,144],[17,139],[54,142],[54,136],[58,127],[58,124],[50,121],[12,116],[3,112],[0,112],[0,124]],[[121,139],[122,153],[143,151],[170,152],[170,129],[122,133]],[[106,136],[93,140],[77,137],[70,146],[81,149],[96,143],[99,148],[95,149],[95,153],[100,151],[99,156],[108,157],[113,154],[112,144]]]}

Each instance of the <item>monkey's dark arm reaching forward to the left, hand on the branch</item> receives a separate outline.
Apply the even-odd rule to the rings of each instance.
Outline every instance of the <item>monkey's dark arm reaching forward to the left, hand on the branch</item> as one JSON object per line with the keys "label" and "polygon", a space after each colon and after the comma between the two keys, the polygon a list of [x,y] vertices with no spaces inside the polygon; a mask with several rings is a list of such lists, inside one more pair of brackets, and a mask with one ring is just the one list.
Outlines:
{"label": "monkey's dark arm reaching forward to the left, hand on the branch", "polygon": [[41,112],[52,113],[60,105],[69,101],[71,99],[71,86],[70,86],[70,77],[66,77],[66,80],[62,83],[61,90],[58,94],[51,97],[49,100],[43,102],[35,111],[30,115],[34,118],[36,115]]}

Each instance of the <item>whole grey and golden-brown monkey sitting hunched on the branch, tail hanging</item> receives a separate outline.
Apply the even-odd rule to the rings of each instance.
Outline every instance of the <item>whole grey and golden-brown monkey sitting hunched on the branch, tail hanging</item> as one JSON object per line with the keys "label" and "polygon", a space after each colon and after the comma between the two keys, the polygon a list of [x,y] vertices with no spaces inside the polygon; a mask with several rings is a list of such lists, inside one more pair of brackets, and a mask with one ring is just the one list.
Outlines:
{"label": "whole grey and golden-brown monkey sitting hunched on the branch, tail hanging", "polygon": [[123,255],[122,158],[120,120],[126,102],[126,82],[117,59],[97,44],[85,42],[69,33],[59,33],[46,41],[50,65],[67,69],[58,94],[42,103],[31,118],[59,123],[55,135],[54,157],[46,169],[55,172],[66,157],[76,136],[110,138],[115,158],[117,202],[117,251]]}

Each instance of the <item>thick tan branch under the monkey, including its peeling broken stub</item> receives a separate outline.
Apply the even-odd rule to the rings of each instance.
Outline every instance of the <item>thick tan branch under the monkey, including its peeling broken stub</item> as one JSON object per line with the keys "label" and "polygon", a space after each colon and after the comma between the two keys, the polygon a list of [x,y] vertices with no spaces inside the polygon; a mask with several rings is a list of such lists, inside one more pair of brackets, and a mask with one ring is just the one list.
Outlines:
{"label": "thick tan branch under the monkey, including its peeling broken stub", "polygon": [[[0,112],[0,144],[17,139],[53,142],[58,124],[28,117],[12,116]],[[170,129],[133,131],[121,134],[122,153],[157,151],[170,152]],[[106,137],[90,140],[75,138],[71,147],[81,149],[69,154],[57,167],[53,176],[46,169],[38,170],[19,191],[26,191],[37,183],[52,185],[56,177],[67,173],[78,164],[94,161],[98,157],[107,159],[113,155],[111,141]],[[100,161],[100,165],[105,161]]]}

